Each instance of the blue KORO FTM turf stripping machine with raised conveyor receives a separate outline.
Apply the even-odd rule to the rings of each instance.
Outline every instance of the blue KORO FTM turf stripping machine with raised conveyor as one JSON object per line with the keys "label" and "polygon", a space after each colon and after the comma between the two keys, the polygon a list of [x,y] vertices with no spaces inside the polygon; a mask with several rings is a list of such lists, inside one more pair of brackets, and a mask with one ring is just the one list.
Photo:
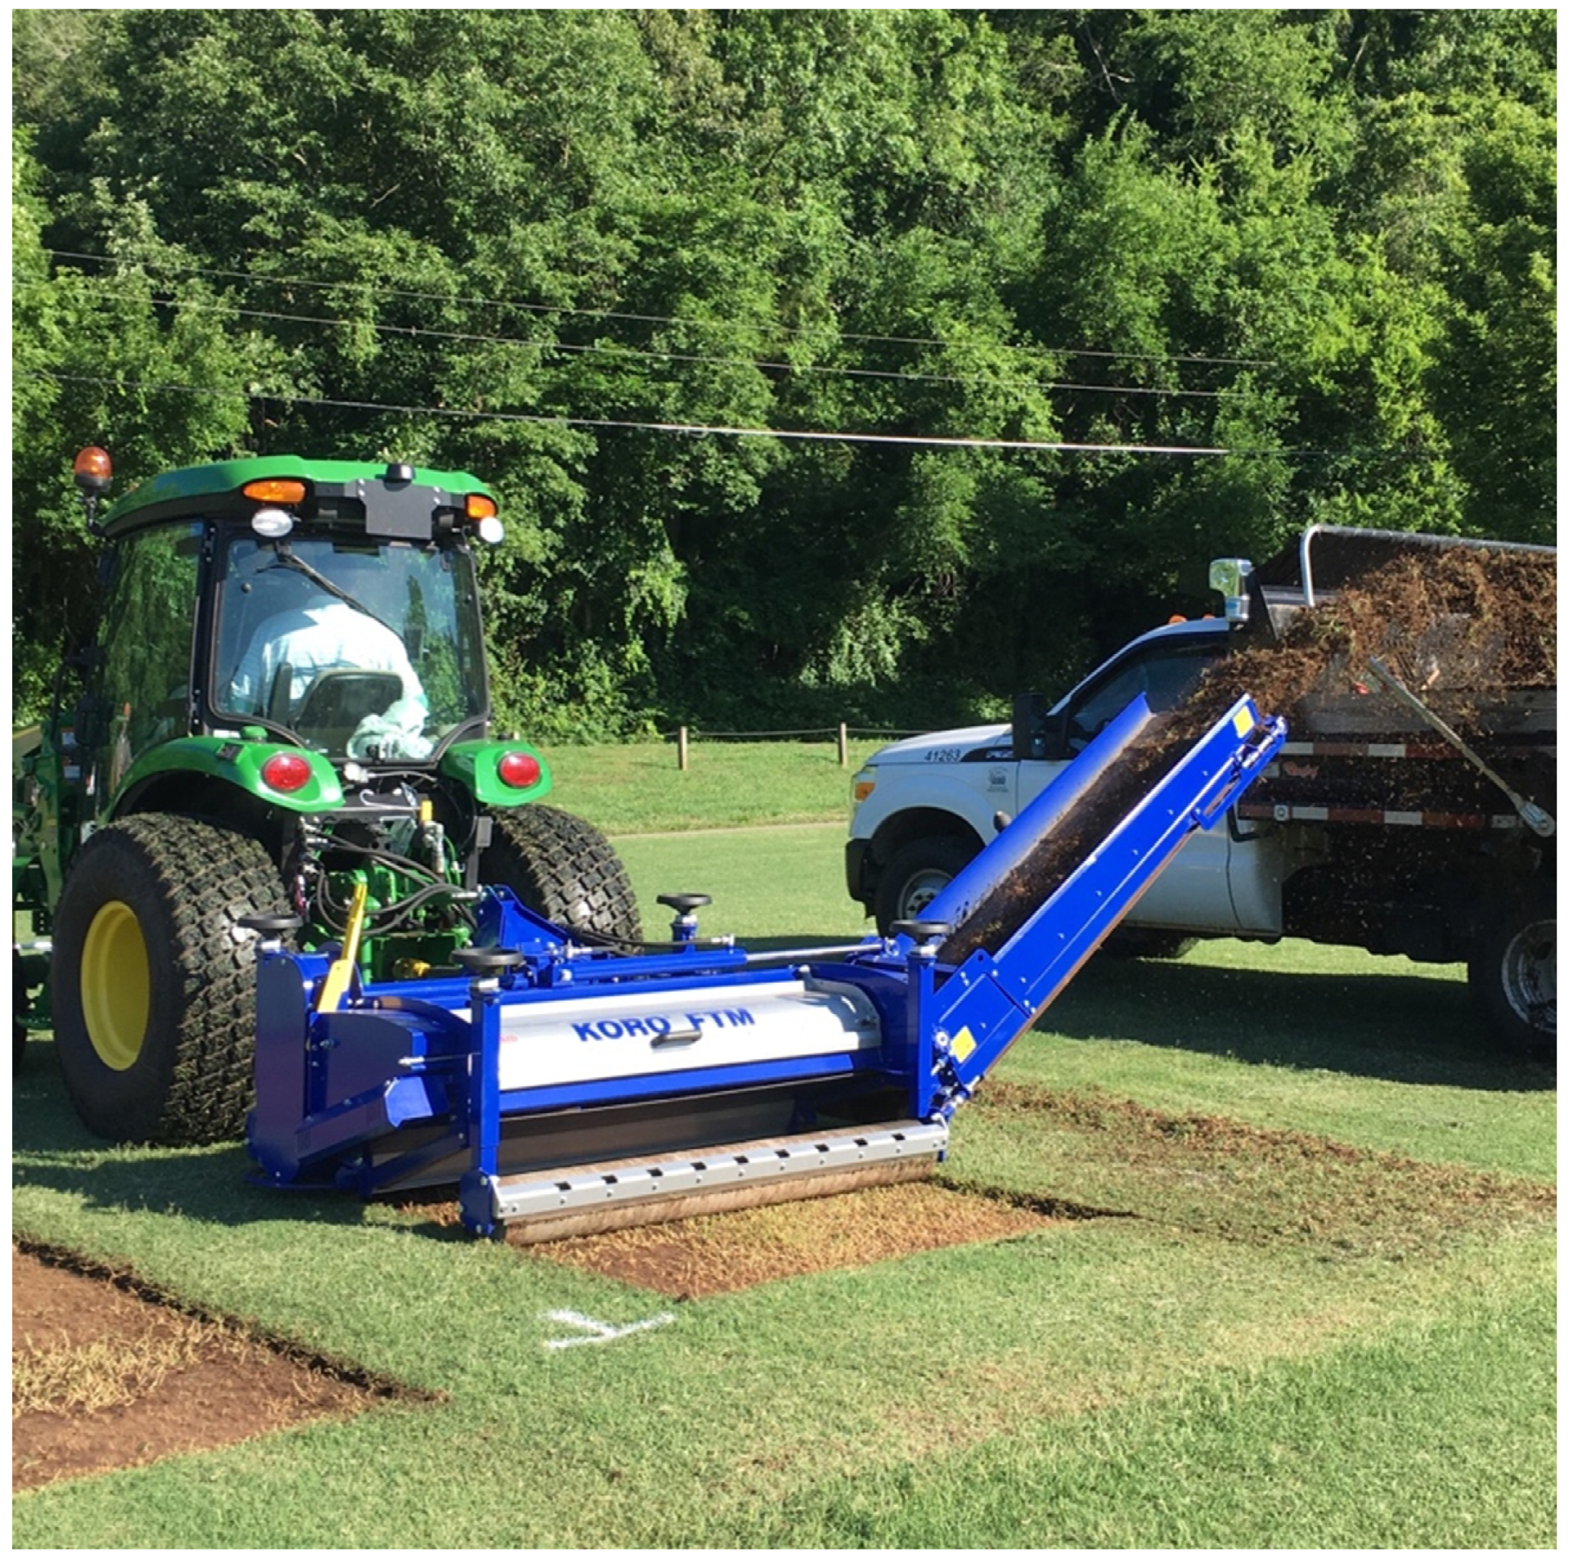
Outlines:
{"label": "blue KORO FTM turf stripping machine with raised conveyor", "polygon": [[930,1173],[955,1109],[1285,738],[1243,697],[996,949],[944,961],[1150,724],[1137,697],[889,939],[748,953],[699,939],[707,898],[682,895],[669,949],[628,957],[495,889],[451,979],[364,983],[353,931],[264,941],[261,1178],[456,1184],[470,1230],[536,1241]]}

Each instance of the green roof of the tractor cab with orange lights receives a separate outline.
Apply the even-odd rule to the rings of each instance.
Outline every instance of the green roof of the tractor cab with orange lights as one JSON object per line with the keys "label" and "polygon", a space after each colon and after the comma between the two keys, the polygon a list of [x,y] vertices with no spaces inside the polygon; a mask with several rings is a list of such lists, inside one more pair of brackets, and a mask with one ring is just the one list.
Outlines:
{"label": "green roof of the tractor cab with orange lights", "polygon": [[102,531],[121,537],[193,514],[248,520],[262,506],[283,506],[305,525],[358,525],[377,537],[419,542],[435,536],[438,518],[462,523],[496,512],[485,485],[470,473],[402,462],[245,457],[145,479],[104,514]]}

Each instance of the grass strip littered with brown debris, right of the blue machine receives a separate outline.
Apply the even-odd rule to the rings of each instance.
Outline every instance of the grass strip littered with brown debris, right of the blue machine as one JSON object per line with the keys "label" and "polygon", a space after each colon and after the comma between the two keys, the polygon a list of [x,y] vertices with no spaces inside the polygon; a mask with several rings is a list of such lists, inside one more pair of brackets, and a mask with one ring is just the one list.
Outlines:
{"label": "grass strip littered with brown debris, right of the blue machine", "polygon": [[[1555,1187],[1538,1181],[1082,1092],[994,1081],[968,1115],[968,1129],[982,1132],[976,1162],[1007,1169],[1002,1184],[1016,1198],[1244,1244],[1419,1260],[1439,1255],[1463,1233],[1544,1222],[1555,1213]],[[979,1178],[961,1176],[958,1184],[1002,1194]]]}

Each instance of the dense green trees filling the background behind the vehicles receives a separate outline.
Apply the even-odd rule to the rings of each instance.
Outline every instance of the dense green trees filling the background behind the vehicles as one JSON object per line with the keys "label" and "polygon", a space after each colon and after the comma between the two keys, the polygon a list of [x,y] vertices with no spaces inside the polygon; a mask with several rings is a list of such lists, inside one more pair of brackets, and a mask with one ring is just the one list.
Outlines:
{"label": "dense green trees filling the background behind the vehicles", "polygon": [[19,704],[88,613],[88,441],[484,474],[540,735],[947,719],[1310,520],[1551,539],[1554,46],[1552,11],[20,11]]}

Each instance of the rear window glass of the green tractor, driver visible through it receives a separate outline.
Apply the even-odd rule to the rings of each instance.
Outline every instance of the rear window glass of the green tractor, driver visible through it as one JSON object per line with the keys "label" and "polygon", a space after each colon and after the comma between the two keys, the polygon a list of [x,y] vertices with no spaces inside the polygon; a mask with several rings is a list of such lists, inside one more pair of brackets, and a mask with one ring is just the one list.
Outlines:
{"label": "rear window glass of the green tractor, driver visible through it", "polygon": [[467,551],[363,537],[234,537],[212,707],[311,749],[421,762],[485,715]]}

